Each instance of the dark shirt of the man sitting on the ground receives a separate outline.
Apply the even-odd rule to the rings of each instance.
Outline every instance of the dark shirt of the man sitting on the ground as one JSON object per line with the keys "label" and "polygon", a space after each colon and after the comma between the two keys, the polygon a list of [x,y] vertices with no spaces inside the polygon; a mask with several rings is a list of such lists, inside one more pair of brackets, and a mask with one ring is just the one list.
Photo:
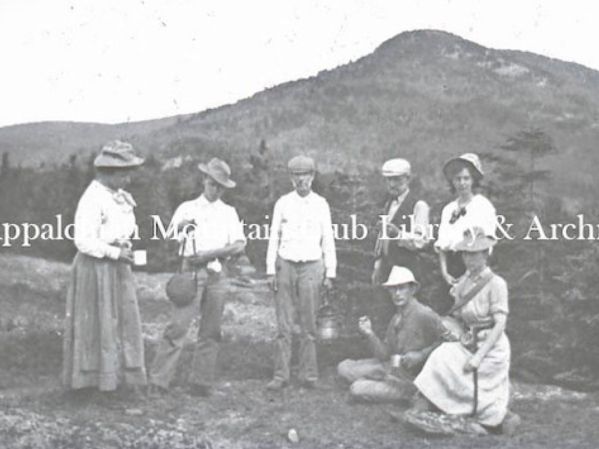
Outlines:
{"label": "dark shirt of the man sitting on the ground", "polygon": [[443,332],[439,315],[413,298],[389,321],[385,341],[381,342],[378,338],[370,341],[375,356],[385,362],[392,354],[428,348],[441,338]]}

